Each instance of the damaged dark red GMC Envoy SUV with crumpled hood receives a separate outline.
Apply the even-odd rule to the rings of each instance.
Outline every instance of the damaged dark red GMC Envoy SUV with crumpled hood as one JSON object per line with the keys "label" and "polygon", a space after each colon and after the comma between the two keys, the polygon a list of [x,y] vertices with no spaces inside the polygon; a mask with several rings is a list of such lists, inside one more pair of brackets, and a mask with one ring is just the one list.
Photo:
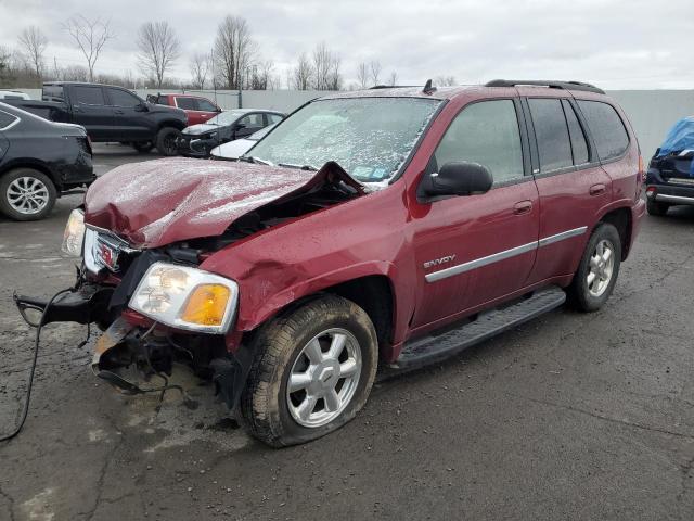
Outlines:
{"label": "damaged dark red GMC Envoy SUV with crumpled hood", "polygon": [[73,212],[43,322],[105,330],[93,368],[211,379],[256,437],[314,440],[407,371],[562,305],[600,308],[644,214],[637,138],[579,82],[316,100],[239,162],[120,166]]}

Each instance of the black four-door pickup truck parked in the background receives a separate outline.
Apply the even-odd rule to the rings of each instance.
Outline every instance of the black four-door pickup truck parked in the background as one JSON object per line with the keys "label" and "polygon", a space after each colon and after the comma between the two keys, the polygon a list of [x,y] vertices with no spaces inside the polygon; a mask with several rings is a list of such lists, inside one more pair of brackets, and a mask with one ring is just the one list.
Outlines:
{"label": "black four-door pickup truck parked in the background", "polygon": [[129,143],[139,152],[156,147],[162,155],[177,154],[176,140],[188,124],[183,111],[110,85],[47,82],[41,101],[7,101],[52,122],[81,125],[93,142]]}

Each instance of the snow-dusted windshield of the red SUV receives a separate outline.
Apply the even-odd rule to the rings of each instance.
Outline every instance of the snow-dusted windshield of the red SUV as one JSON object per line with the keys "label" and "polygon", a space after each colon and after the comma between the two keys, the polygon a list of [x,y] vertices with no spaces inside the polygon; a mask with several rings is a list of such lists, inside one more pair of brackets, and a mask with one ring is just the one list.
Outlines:
{"label": "snow-dusted windshield of the red SUV", "polygon": [[247,155],[274,165],[316,169],[335,161],[359,181],[384,181],[400,169],[439,103],[422,98],[316,101],[283,122]]}

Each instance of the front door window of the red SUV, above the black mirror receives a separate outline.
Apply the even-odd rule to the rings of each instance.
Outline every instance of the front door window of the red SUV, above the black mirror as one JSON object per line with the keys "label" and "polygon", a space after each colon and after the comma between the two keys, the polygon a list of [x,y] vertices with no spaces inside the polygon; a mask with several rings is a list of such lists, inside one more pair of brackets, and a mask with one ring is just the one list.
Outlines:
{"label": "front door window of the red SUV, above the black mirror", "polygon": [[481,101],[453,119],[433,156],[433,171],[446,163],[486,166],[499,185],[524,176],[518,117],[512,100]]}

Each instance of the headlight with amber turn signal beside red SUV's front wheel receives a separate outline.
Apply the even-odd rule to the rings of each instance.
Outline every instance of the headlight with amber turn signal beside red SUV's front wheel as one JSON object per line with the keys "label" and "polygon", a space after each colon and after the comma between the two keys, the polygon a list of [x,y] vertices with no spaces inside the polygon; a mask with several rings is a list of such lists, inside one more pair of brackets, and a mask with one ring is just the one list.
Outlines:
{"label": "headlight with amber turn signal beside red SUV's front wheel", "polygon": [[130,298],[130,308],[158,322],[206,333],[231,325],[239,285],[202,269],[154,263]]}

